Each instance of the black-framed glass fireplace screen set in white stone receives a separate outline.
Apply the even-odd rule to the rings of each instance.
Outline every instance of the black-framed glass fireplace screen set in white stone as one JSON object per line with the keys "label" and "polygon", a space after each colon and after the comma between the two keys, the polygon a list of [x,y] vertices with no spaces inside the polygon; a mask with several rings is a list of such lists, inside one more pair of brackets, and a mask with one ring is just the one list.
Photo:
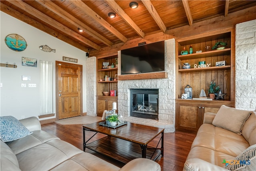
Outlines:
{"label": "black-framed glass fireplace screen set in white stone", "polygon": [[131,89],[131,116],[158,120],[158,89]]}

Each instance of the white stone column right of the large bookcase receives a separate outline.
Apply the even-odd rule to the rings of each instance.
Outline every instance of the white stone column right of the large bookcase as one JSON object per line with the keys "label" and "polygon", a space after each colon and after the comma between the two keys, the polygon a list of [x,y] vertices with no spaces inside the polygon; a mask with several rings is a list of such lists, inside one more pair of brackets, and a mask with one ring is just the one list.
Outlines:
{"label": "white stone column right of the large bookcase", "polygon": [[236,108],[256,109],[256,20],[236,25]]}

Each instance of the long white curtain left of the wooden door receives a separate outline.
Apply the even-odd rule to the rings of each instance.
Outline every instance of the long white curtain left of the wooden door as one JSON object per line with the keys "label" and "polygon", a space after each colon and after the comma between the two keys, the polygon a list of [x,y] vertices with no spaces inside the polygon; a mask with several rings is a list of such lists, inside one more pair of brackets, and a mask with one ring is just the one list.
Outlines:
{"label": "long white curtain left of the wooden door", "polygon": [[53,113],[52,62],[40,60],[40,115]]}

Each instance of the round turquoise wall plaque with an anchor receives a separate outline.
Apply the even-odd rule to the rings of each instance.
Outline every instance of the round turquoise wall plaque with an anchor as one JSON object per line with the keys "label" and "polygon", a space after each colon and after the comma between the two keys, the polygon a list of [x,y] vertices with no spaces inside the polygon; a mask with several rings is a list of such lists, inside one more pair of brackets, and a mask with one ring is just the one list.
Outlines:
{"label": "round turquoise wall plaque with an anchor", "polygon": [[26,49],[27,42],[18,34],[9,34],[5,38],[5,43],[11,50],[21,52]]}

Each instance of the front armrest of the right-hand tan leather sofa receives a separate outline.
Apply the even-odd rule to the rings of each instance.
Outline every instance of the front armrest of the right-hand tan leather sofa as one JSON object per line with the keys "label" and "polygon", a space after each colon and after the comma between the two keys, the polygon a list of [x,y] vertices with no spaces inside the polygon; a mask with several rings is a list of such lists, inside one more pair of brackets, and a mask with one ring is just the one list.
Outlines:
{"label": "front armrest of the right-hand tan leather sofa", "polygon": [[192,158],[185,162],[183,171],[228,171],[228,169],[224,169],[223,167],[214,165],[202,159]]}

